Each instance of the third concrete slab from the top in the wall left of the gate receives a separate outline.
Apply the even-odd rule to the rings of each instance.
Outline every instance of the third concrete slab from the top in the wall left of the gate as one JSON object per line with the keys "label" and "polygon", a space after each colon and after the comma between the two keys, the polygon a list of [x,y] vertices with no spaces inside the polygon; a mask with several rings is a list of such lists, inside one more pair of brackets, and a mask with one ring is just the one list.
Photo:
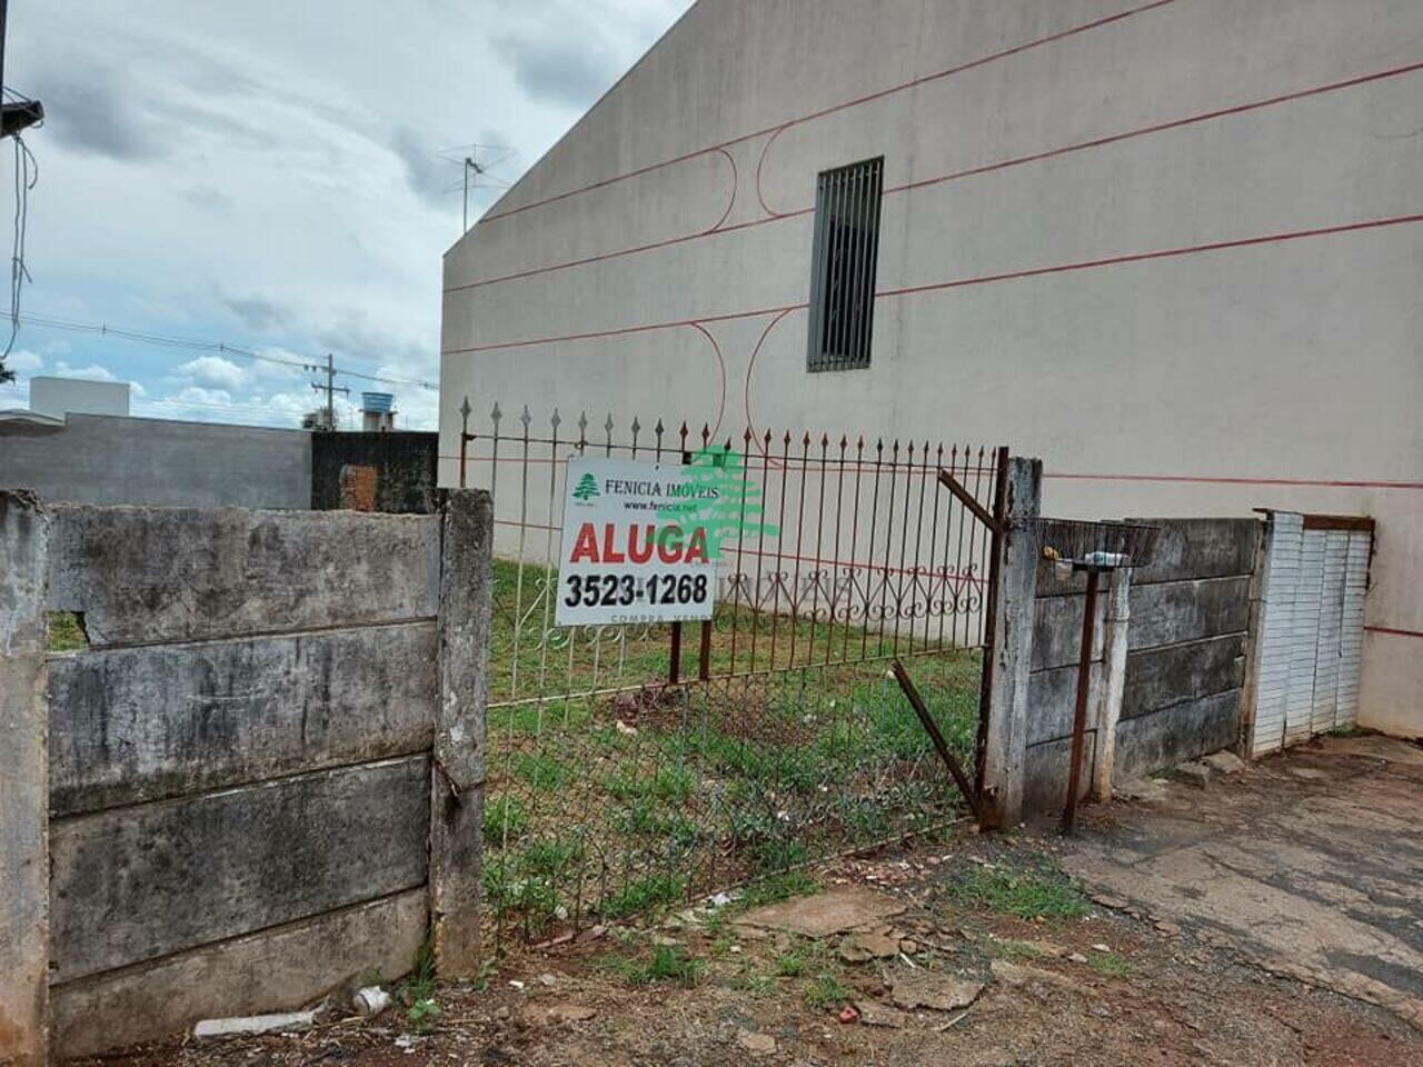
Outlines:
{"label": "third concrete slab from the top in the wall left of the gate", "polygon": [[60,819],[53,980],[418,886],[428,822],[424,755]]}

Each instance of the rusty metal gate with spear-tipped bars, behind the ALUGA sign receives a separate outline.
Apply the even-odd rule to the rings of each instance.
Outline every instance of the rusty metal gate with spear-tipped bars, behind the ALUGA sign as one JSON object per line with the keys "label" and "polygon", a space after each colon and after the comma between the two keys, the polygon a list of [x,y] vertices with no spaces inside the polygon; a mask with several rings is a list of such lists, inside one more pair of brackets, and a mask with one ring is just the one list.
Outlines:
{"label": "rusty metal gate with spear-tipped bars, behind the ALUGA sign", "polygon": [[[1006,448],[464,405],[495,509],[484,891],[546,939],[955,819],[889,664],[978,760]],[[554,625],[569,457],[719,451],[764,521],[723,541],[707,623]],[[743,499],[746,498],[743,497]],[[683,632],[686,630],[686,632]]]}

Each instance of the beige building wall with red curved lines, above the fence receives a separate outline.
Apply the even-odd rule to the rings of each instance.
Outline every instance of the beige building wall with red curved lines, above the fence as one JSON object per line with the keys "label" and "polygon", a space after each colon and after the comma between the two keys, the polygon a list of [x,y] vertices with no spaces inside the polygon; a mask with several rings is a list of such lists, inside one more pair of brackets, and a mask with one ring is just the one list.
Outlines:
{"label": "beige building wall with red curved lines, above the fence", "polygon": [[[702,0],[445,256],[458,408],[1009,444],[1064,515],[1370,514],[1423,734],[1423,4]],[[807,374],[884,155],[868,370]]]}

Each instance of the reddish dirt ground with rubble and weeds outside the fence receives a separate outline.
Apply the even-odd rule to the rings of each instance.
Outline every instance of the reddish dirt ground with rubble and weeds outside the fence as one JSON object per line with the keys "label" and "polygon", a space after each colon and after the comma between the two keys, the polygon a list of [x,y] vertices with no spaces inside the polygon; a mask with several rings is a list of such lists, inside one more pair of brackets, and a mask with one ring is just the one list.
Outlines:
{"label": "reddish dirt ground with rubble and weeds outside the fence", "polygon": [[[1392,957],[1360,959],[1399,945],[1416,949],[1423,930],[1417,891],[1396,893],[1377,881],[1400,856],[1406,864],[1417,858],[1417,819],[1405,825],[1403,808],[1423,802],[1423,781],[1389,770],[1397,765],[1380,763],[1376,751],[1315,750],[1205,791],[1171,784],[1155,800],[1090,808],[1072,842],[1046,828],[962,832],[817,869],[814,883],[787,878],[720,908],[595,928],[573,942],[511,953],[478,983],[407,987],[406,1002],[428,993],[438,1006],[423,1027],[397,1004],[371,1021],[138,1050],[104,1063],[1423,1063],[1423,1031],[1399,1014],[1406,1003],[1395,999],[1389,1012],[1369,1003],[1372,987],[1350,984],[1350,975],[1375,982],[1392,975]],[[1392,807],[1356,811],[1356,846],[1329,852],[1333,875],[1321,878],[1306,852],[1325,819],[1305,815],[1328,802],[1360,802],[1370,781]],[[1299,812],[1303,821],[1271,821],[1264,808]],[[1183,824],[1192,819],[1194,834],[1187,834]],[[1237,838],[1232,844],[1257,864],[1266,864],[1259,842],[1269,842],[1268,862],[1294,866],[1281,866],[1274,881],[1257,871],[1264,881],[1234,882],[1212,864],[1195,875],[1168,866],[1170,878],[1153,866],[1150,856],[1211,848],[1202,842],[1212,835],[1217,845]],[[1319,841],[1315,846],[1328,852]],[[1409,868],[1400,876],[1416,874]],[[1312,920],[1333,909],[1340,945],[1362,950],[1311,939],[1298,923],[1291,940],[1274,943],[1268,930],[1291,926],[1294,916],[1247,905],[1288,906],[1269,895],[1281,892],[1276,882],[1325,909]],[[1370,936],[1348,926],[1369,925],[1358,918],[1359,901],[1339,888],[1355,883],[1373,893],[1383,909],[1379,929],[1396,943],[1369,949],[1368,940],[1350,940]]]}

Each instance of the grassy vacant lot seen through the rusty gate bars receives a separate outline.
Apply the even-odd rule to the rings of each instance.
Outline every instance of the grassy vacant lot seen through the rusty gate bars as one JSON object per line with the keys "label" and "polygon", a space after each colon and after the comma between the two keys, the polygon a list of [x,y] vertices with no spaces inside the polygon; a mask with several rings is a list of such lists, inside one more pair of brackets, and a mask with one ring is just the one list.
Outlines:
{"label": "grassy vacant lot seen through the rusty gate bars", "polygon": [[[911,673],[970,761],[976,652],[921,654],[925,627],[911,646],[889,626],[723,603],[712,680],[667,686],[667,626],[554,629],[555,585],[495,565],[484,828],[501,943],[684,906],[959,814],[888,660],[915,653]],[[684,630],[694,679],[700,625]]]}

